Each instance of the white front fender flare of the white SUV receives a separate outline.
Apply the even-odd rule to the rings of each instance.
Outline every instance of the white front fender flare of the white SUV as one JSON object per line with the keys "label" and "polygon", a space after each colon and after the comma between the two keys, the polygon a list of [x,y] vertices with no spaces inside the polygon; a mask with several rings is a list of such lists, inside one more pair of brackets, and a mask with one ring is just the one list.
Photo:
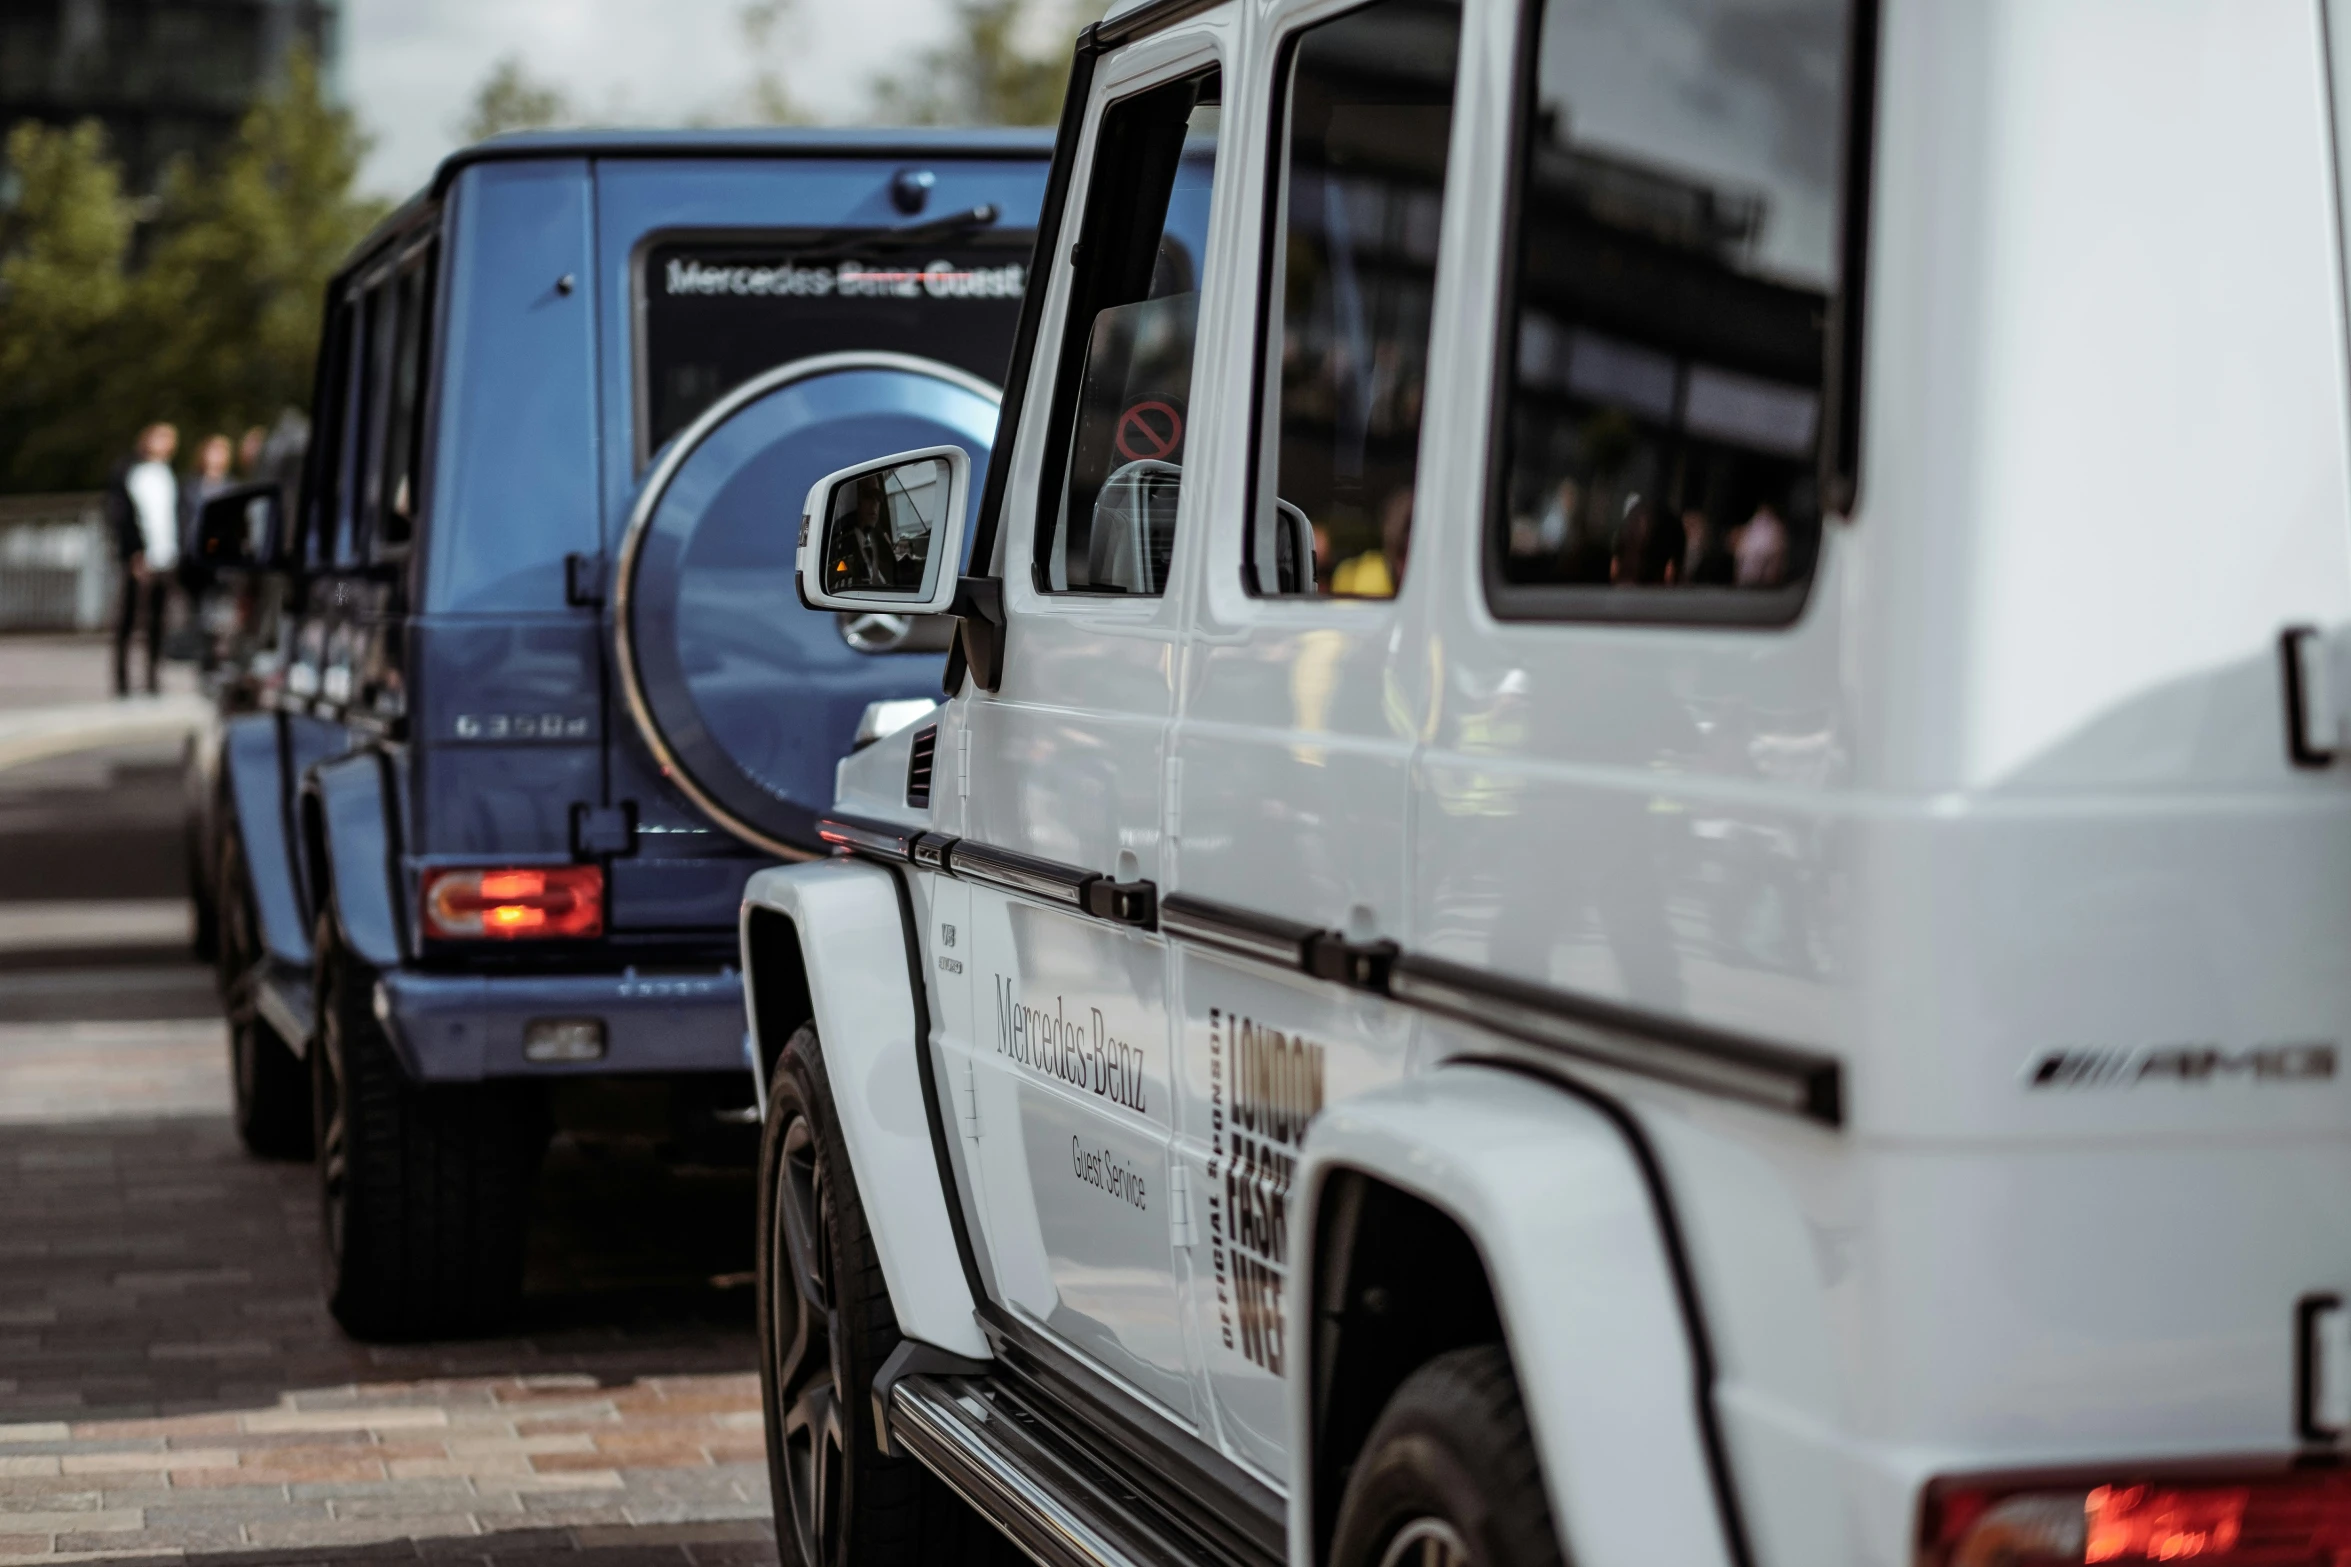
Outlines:
{"label": "white front fender flare of the white SUV", "polygon": [[[915,930],[900,900],[910,895],[893,872],[858,860],[785,865],[752,876],[743,890],[745,1006],[755,1029],[788,1034],[797,1024],[790,1013],[799,1010],[799,994],[778,991],[804,987],[898,1330],[985,1360],[987,1339],[964,1280],[947,1217],[947,1172],[938,1165],[922,1090],[929,1020],[907,966]],[[757,949],[781,940],[797,951]],[[769,989],[764,1020],[762,980]],[[783,1038],[762,1038],[762,1045],[776,1050]]]}

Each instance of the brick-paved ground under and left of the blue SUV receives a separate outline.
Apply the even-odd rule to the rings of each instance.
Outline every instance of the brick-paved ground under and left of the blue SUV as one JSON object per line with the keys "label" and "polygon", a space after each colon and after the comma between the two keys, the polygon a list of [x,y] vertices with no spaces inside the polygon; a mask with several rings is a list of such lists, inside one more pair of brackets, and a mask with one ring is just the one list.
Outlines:
{"label": "brick-paved ground under and left of the blue SUV", "polygon": [[[0,771],[0,862],[12,803],[160,813],[155,759],[35,766]],[[176,890],[0,893],[0,1567],[773,1562],[748,1175],[560,1137],[517,1332],[355,1344],[313,1168],[228,1125]]]}

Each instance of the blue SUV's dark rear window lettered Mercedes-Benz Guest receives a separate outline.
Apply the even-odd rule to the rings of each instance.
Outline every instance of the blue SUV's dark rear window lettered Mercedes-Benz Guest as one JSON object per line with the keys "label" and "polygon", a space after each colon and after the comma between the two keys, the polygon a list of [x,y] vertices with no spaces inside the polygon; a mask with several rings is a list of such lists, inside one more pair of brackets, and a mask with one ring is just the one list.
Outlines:
{"label": "blue SUV's dark rear window lettered Mercedes-Benz Guest", "polygon": [[863,254],[766,242],[665,242],[637,277],[637,460],[729,390],[809,355],[891,350],[1002,385],[1027,289],[1030,235],[980,233]]}

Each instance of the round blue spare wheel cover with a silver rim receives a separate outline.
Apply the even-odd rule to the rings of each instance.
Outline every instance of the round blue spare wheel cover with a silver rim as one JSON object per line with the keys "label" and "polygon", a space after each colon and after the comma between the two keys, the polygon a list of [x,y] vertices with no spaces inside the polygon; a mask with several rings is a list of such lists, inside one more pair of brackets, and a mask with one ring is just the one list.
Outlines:
{"label": "round blue spare wheel cover with a silver rim", "polygon": [[802,606],[792,550],[809,486],[952,442],[978,498],[994,432],[997,388],[978,376],[818,355],[745,381],[654,468],[621,540],[616,665],[663,771],[736,836],[785,858],[820,850],[816,818],[865,705],[938,695],[936,639],[893,651],[903,623]]}

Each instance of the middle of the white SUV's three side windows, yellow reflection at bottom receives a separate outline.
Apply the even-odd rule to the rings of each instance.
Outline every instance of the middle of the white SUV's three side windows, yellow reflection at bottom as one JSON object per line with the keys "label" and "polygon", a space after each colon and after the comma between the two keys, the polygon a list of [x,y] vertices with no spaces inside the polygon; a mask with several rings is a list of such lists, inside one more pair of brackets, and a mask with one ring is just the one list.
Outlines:
{"label": "middle of the white SUV's three side windows, yellow reflection at bottom", "polygon": [[1458,54],[1453,0],[1378,0],[1286,49],[1255,592],[1387,599],[1404,583]]}

